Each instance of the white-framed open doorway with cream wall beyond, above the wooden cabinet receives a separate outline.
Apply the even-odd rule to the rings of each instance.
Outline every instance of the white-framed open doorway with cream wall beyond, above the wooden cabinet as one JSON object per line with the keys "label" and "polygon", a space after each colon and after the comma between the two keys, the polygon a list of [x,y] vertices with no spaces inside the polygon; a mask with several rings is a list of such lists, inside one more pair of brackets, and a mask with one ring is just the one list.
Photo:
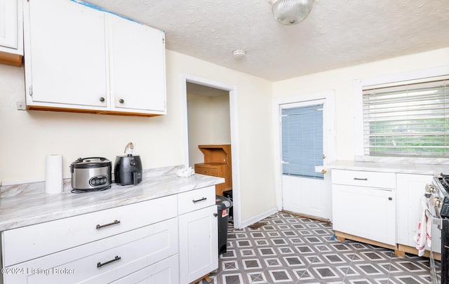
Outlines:
{"label": "white-framed open doorway with cream wall beyond, above the wooden cabinet", "polygon": [[196,76],[182,75],[181,95],[185,165],[203,163],[199,144],[231,144],[234,228],[241,228],[239,147],[236,87]]}

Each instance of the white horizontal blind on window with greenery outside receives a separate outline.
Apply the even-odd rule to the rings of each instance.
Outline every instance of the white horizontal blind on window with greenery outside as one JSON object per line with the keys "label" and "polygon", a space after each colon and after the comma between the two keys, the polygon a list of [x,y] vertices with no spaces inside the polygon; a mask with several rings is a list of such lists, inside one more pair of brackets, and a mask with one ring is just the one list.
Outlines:
{"label": "white horizontal blind on window with greenery outside", "polygon": [[366,156],[448,158],[449,76],[363,87]]}

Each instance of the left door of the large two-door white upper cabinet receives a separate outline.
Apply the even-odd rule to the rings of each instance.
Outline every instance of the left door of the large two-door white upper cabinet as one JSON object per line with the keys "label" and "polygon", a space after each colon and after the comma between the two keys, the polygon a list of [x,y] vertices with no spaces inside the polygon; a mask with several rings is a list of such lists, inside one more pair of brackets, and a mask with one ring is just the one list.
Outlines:
{"label": "left door of the large two-door white upper cabinet", "polygon": [[105,13],[69,0],[25,6],[27,104],[106,107]]}

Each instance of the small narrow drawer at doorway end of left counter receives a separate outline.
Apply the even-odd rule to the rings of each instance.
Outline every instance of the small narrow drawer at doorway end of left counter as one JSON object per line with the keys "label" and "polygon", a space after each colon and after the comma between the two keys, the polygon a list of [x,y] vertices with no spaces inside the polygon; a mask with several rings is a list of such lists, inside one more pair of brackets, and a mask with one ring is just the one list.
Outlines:
{"label": "small narrow drawer at doorway end of left counter", "polygon": [[192,191],[182,192],[177,196],[178,214],[215,205],[215,187],[204,187]]}

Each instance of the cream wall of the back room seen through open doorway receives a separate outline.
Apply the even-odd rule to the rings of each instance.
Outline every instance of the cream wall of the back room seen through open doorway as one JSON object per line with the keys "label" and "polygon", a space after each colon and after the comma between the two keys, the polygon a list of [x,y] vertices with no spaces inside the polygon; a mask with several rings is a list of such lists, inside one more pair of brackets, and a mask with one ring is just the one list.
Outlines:
{"label": "cream wall of the back room seen through open doorway", "polygon": [[203,163],[200,144],[231,144],[229,95],[187,94],[189,165]]}

